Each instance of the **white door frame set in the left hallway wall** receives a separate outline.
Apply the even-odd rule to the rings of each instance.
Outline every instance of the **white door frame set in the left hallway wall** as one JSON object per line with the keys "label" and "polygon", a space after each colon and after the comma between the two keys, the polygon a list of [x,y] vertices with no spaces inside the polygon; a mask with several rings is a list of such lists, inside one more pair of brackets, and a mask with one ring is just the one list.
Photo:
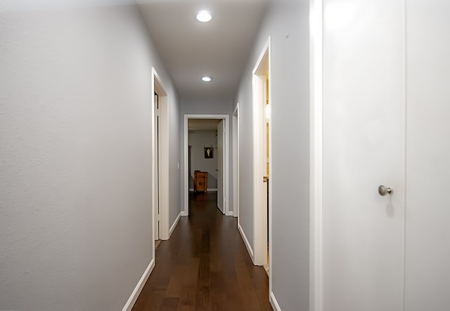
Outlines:
{"label": "white door frame set in the left hallway wall", "polygon": [[[162,86],[162,80],[156,72],[155,67],[152,67],[151,77],[151,98],[152,98],[152,171],[155,172],[157,166],[157,124],[155,123],[155,96],[158,94],[159,107],[160,107],[160,187],[159,187],[159,200],[160,200],[160,226],[159,226],[159,238],[163,240],[169,239],[169,122],[167,119],[167,92],[164,86]],[[153,215],[153,234],[155,234],[155,217],[157,216],[157,196],[158,187],[156,183],[156,174],[152,174],[152,215]],[[155,238],[153,237],[153,256],[155,255]],[[153,257],[154,258],[154,257]]]}

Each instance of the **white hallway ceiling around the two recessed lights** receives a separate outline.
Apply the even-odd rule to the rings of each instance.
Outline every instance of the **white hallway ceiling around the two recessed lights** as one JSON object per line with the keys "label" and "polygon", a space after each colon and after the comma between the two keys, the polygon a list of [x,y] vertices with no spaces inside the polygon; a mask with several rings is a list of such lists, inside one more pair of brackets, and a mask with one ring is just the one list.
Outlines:
{"label": "white hallway ceiling around the two recessed lights", "polygon": [[[268,0],[137,2],[181,98],[233,98]],[[212,20],[198,22],[200,10]]]}

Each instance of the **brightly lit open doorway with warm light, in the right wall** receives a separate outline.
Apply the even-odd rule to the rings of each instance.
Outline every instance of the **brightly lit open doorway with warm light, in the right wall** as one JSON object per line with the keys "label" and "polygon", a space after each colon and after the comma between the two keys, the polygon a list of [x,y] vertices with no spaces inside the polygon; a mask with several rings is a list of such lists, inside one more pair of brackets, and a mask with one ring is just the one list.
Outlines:
{"label": "brightly lit open doorway with warm light, in the right wall", "polygon": [[[253,70],[255,265],[271,264],[271,68],[270,37]],[[270,279],[270,278],[269,278]]]}

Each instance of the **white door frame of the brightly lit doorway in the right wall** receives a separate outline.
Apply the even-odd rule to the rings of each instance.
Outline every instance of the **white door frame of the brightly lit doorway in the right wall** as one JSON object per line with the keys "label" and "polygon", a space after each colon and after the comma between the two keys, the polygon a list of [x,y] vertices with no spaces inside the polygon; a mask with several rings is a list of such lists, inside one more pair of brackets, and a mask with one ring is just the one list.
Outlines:
{"label": "white door frame of the brightly lit doorway in the right wall", "polygon": [[[267,64],[265,64],[267,62]],[[255,249],[253,255],[253,263],[255,265],[266,265],[267,263],[267,235],[269,234],[269,271],[272,271],[272,234],[271,234],[271,209],[272,183],[269,183],[269,206],[267,202],[262,202],[262,198],[266,197],[266,187],[262,184],[262,176],[266,175],[266,150],[264,150],[263,140],[265,134],[265,122],[262,122],[264,117],[264,98],[266,98],[266,79],[259,74],[263,66],[268,66],[269,76],[269,103],[272,105],[272,77],[271,77],[271,37],[269,37],[262,48],[259,58],[256,62],[255,68],[252,72],[252,97],[253,97],[253,234],[255,240]],[[269,125],[269,171],[272,174],[272,123]],[[267,206],[267,207],[266,207]],[[263,208],[264,207],[264,208]],[[267,218],[267,211],[269,209],[269,219]],[[267,224],[269,224],[269,232],[267,232]],[[269,292],[271,292],[271,277],[269,275]]]}

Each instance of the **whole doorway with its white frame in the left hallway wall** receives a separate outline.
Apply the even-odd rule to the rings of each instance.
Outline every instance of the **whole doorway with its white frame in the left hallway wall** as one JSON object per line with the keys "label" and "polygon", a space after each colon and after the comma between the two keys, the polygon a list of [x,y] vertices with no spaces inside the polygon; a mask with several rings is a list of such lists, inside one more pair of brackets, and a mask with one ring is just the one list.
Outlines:
{"label": "whole doorway with its white frame in the left hallway wall", "polygon": [[169,239],[169,128],[167,93],[155,68],[152,68],[152,184],[153,251],[158,240]]}

